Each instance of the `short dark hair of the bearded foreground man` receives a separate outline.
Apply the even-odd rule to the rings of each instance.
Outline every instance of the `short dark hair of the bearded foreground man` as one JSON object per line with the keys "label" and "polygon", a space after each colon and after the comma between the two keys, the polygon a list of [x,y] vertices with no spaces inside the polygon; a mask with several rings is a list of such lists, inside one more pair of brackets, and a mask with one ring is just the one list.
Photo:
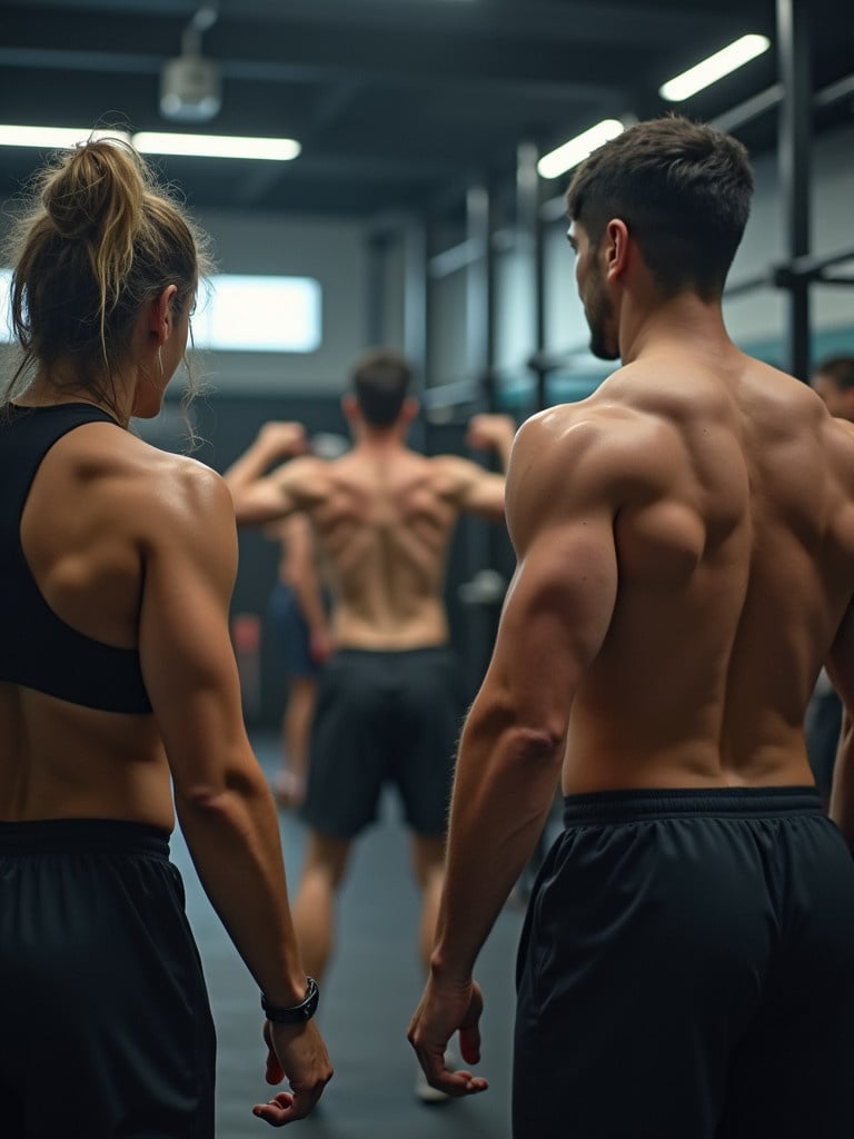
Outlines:
{"label": "short dark hair of the bearded foreground man", "polygon": [[723,292],[750,212],[746,148],[705,123],[667,115],[594,150],[567,190],[567,213],[593,245],[619,218],[665,296]]}

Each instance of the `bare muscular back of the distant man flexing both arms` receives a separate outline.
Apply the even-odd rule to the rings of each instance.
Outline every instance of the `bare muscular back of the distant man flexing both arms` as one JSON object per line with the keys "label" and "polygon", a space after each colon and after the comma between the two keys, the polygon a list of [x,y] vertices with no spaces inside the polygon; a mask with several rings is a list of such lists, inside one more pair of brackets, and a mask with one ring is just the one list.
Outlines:
{"label": "bare muscular back of the distant man flexing both arms", "polygon": [[336,599],[339,647],[375,649],[447,640],[447,549],[479,467],[404,446],[356,446],[335,462],[286,468],[318,532]]}

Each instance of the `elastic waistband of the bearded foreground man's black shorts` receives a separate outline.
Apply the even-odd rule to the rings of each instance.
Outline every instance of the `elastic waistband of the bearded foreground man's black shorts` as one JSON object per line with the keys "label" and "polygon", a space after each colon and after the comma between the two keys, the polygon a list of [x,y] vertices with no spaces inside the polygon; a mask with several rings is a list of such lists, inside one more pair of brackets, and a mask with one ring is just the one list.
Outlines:
{"label": "elastic waistband of the bearded foreground man's black shorts", "polygon": [[771,818],[826,811],[815,787],[675,787],[564,796],[564,826],[642,819],[732,816]]}

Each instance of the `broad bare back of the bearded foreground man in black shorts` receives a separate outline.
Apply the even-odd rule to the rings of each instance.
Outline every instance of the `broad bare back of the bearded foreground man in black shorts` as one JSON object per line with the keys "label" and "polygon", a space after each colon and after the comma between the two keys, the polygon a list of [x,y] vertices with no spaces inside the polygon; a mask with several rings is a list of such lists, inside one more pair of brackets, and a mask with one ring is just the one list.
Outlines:
{"label": "broad bare back of the bearded foreground man in black shorts", "polygon": [[718,363],[639,362],[555,412],[589,481],[568,514],[599,511],[614,575],[567,790],[812,782],[804,712],[854,591],[854,439],[803,384]]}

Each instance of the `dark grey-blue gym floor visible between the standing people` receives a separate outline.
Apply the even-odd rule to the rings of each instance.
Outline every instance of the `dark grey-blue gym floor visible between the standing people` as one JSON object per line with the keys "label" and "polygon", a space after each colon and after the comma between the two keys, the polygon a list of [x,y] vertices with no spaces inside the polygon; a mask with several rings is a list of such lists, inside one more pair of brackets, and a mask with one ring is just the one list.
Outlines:
{"label": "dark grey-blue gym floor visible between the standing people", "polygon": [[[272,776],[278,740],[253,740]],[[296,891],[304,828],[280,812],[285,863]],[[187,887],[187,911],[196,934],[216,1021],[217,1139],[263,1136],[266,1124],[252,1106],[269,1099],[257,989],[214,915],[180,831],[172,858]],[[467,1100],[425,1105],[414,1096],[417,1062],[405,1039],[421,993],[416,953],[418,894],[410,874],[409,843],[389,795],[378,823],[353,849],[338,899],[337,951],[322,985],[320,1025],[335,1066],[321,1104],[293,1125],[311,1139],[508,1139],[514,1015],[514,965],[523,910],[508,903],[484,947],[476,976],[486,999],[482,1063],[488,1091]]]}

